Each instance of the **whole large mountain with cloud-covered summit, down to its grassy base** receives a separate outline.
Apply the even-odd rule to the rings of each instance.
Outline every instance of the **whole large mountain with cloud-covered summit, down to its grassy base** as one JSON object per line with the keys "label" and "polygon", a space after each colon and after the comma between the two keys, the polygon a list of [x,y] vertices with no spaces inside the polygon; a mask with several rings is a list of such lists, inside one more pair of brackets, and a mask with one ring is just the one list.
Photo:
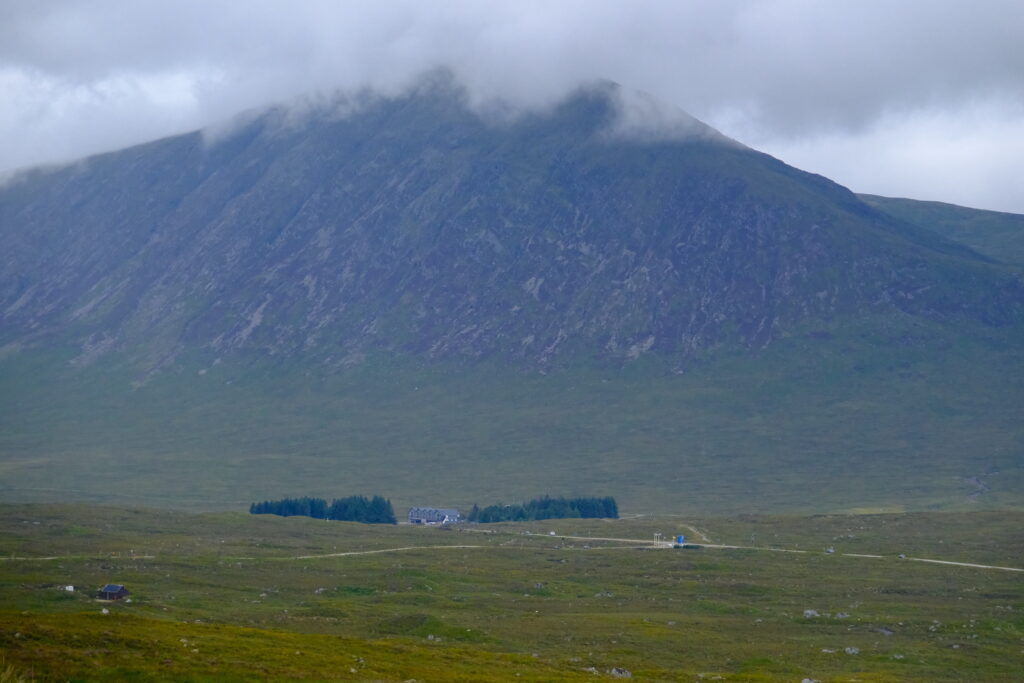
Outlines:
{"label": "whole large mountain with cloud-covered summit, down to its grassy base", "polygon": [[441,79],[8,182],[5,497],[1024,504],[1020,269],[635,104]]}

